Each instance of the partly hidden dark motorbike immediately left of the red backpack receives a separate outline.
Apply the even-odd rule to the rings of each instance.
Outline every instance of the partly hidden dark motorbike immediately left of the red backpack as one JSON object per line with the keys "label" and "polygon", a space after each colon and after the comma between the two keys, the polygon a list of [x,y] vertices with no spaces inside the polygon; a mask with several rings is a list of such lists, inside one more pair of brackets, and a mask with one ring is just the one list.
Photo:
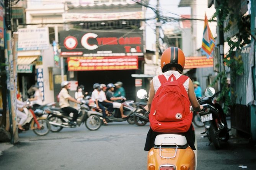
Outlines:
{"label": "partly hidden dark motorbike immediately left of the red backpack", "polygon": [[135,102],[135,105],[137,109],[134,113],[134,122],[138,126],[144,126],[145,124],[147,124],[147,122],[149,122],[148,112],[144,109],[147,103]]}

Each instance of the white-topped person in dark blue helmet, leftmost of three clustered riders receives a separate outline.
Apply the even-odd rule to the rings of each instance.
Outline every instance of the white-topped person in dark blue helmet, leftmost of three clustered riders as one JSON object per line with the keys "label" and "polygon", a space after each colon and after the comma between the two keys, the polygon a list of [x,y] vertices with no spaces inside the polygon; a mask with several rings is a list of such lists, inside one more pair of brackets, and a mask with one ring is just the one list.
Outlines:
{"label": "white-topped person in dark blue helmet, leftmost of three clustered riders", "polygon": [[99,83],[94,83],[93,84],[93,92],[91,93],[91,99],[95,102],[97,109],[101,109],[102,110],[102,117],[103,117],[103,123],[104,125],[108,125],[106,118],[106,111],[105,111],[105,107],[98,102],[99,100],[99,91],[100,91],[100,84]]}

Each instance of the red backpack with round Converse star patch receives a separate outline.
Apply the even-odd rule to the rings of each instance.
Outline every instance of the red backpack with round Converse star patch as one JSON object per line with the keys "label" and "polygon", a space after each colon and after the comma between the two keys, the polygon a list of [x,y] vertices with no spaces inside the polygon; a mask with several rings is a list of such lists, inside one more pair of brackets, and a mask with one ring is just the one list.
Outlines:
{"label": "red backpack with round Converse star patch", "polygon": [[164,75],[158,75],[161,86],[155,93],[149,114],[150,127],[153,131],[183,133],[189,130],[193,114],[190,112],[188,93],[183,86],[188,78],[181,75],[176,80],[172,74],[166,80]]}

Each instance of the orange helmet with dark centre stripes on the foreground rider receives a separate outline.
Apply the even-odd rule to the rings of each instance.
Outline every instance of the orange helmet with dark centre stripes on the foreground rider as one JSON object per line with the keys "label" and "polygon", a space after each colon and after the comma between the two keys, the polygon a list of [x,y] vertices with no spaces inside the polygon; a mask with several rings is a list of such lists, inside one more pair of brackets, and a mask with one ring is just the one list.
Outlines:
{"label": "orange helmet with dark centre stripes on the foreground rider", "polygon": [[166,66],[175,66],[178,67],[180,71],[183,71],[185,66],[185,56],[181,49],[178,47],[169,47],[161,56],[161,69]]}

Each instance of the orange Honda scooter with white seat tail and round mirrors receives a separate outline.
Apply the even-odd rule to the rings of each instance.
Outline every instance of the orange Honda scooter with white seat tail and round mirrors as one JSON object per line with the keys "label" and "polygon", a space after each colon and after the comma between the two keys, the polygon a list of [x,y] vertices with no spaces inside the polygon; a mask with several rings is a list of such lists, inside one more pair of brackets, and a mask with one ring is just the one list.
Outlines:
{"label": "orange Honda scooter with white seat tail and round mirrors", "polygon": [[[213,96],[215,91],[211,90],[211,88],[205,89]],[[147,91],[140,89],[137,96],[144,99]],[[197,151],[190,148],[183,134],[163,133],[156,136],[154,143],[155,146],[148,152],[148,170],[196,170]],[[197,148],[197,143],[195,147]]]}

